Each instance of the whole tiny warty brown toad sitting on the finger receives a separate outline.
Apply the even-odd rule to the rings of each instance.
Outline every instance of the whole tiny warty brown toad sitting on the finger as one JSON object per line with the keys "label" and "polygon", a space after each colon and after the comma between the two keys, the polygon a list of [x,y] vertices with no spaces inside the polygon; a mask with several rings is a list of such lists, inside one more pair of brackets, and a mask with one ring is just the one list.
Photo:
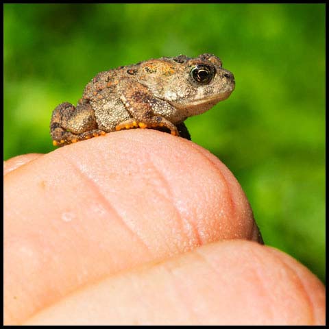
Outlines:
{"label": "whole tiny warty brown toad sitting on the finger", "polygon": [[96,75],[76,107],[62,103],[53,110],[51,137],[62,146],[115,130],[164,127],[188,138],[183,121],[233,90],[232,73],[210,54],[121,66]]}

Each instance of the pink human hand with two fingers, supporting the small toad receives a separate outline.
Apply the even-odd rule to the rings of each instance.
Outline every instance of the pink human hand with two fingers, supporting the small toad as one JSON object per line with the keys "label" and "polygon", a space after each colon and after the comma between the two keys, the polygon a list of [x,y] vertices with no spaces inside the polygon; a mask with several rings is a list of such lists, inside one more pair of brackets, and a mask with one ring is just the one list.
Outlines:
{"label": "pink human hand with two fingers, supporting the small toad", "polygon": [[325,324],[324,285],[254,242],[241,186],[194,143],[127,130],[4,173],[5,324]]}

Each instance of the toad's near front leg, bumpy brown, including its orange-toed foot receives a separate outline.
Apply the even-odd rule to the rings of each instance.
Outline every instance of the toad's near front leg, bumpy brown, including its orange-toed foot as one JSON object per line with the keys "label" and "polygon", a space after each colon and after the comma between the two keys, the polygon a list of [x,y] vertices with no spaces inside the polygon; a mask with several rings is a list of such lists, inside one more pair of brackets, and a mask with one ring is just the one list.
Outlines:
{"label": "toad's near front leg, bumpy brown, including its orange-toed foot", "polygon": [[179,136],[177,127],[168,119],[158,114],[158,112],[171,112],[172,106],[157,99],[152,95],[149,90],[136,82],[130,84],[126,82],[122,89],[120,100],[129,112],[132,119],[119,123],[115,129],[130,129],[133,127],[140,128],[156,128],[166,127],[170,130],[171,134]]}

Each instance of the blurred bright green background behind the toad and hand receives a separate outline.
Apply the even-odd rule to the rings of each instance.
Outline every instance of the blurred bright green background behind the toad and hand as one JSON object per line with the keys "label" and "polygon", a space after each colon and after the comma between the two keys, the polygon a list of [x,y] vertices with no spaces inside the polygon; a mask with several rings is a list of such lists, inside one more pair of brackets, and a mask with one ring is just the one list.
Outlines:
{"label": "blurred bright green background behind the toad and hand", "polygon": [[325,282],[324,4],[5,4],[4,159],[52,151],[51,112],[99,71],[215,53],[230,99],[186,121],[238,178],[265,243]]}

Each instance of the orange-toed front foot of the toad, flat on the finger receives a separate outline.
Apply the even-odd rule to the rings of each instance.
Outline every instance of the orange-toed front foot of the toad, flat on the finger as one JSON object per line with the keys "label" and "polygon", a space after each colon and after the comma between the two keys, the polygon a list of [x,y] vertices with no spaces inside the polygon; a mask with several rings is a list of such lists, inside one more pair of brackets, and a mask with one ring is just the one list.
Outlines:
{"label": "orange-toed front foot of the toad, flat on the finger", "polygon": [[151,118],[145,118],[143,119],[143,121],[129,119],[127,121],[119,123],[119,125],[115,127],[115,130],[131,129],[136,127],[140,127],[142,129],[166,127],[170,130],[172,135],[179,136],[177,127],[167,119],[164,119],[164,117],[160,117],[160,115]]}

